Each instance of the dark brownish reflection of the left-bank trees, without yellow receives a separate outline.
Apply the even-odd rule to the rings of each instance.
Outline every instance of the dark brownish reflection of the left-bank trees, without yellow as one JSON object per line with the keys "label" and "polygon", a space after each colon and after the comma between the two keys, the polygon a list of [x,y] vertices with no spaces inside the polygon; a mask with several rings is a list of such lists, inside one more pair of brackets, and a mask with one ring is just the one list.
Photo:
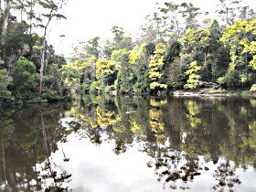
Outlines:
{"label": "dark brownish reflection of the left-bank trees, without yellow", "polygon": [[39,191],[35,165],[58,150],[63,137],[59,119],[68,110],[63,104],[31,104],[1,112],[1,190]]}

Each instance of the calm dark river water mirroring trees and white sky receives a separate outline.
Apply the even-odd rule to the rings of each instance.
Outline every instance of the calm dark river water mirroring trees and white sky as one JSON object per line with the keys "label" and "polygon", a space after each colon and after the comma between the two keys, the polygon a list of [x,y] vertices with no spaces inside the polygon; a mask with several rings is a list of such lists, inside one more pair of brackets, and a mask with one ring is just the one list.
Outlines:
{"label": "calm dark river water mirroring trees and white sky", "polygon": [[256,100],[85,97],[0,111],[3,191],[256,191]]}

